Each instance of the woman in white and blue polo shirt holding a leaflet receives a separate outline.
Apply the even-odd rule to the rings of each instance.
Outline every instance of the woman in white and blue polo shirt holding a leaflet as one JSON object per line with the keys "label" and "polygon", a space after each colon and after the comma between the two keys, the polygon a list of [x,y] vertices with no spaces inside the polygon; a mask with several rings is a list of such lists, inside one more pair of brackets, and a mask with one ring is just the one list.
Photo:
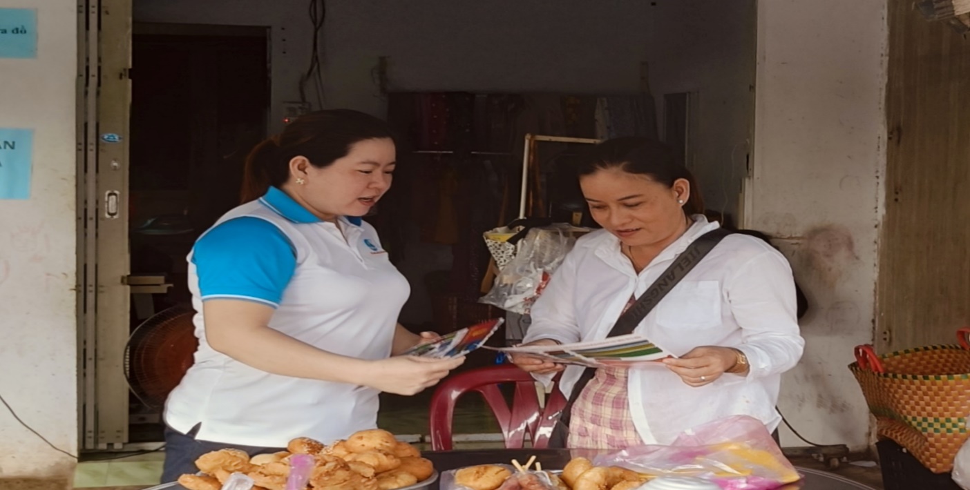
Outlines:
{"label": "woman in white and blue polo shirt holding a leaflet", "polygon": [[166,404],[162,481],[195,473],[210,450],[273,452],[373,428],[380,391],[417,393],[463,362],[395,356],[422,340],[397,322],[410,290],[355,218],[394,168],[386,124],[353,110],[304,115],[253,149],[253,200],[188,257],[199,349]]}

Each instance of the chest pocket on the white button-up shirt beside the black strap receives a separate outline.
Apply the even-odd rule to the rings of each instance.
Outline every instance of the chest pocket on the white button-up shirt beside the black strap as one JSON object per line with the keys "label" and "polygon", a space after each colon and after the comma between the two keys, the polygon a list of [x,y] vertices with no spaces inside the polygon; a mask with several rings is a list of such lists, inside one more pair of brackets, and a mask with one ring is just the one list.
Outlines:
{"label": "chest pocket on the white button-up shirt beside the black strap", "polygon": [[721,324],[721,284],[682,281],[657,305],[657,322],[673,328],[711,328]]}

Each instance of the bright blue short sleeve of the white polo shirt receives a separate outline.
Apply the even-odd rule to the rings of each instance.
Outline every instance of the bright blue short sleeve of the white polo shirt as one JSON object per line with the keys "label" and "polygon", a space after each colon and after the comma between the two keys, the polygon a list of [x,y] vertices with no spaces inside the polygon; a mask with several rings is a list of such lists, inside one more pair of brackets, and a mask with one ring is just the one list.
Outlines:
{"label": "bright blue short sleeve of the white polo shirt", "polygon": [[202,300],[243,299],[274,308],[296,270],[290,239],[266,220],[226,221],[195,242],[192,262]]}

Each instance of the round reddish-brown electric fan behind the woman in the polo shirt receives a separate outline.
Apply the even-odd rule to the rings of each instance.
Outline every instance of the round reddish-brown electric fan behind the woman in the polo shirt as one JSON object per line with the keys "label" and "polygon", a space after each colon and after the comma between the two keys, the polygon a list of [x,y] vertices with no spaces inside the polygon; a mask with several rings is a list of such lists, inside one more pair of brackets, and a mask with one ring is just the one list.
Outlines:
{"label": "round reddish-brown electric fan behind the woman in the polo shirt", "polygon": [[187,305],[173,306],[138,325],[128,339],[125,377],[135,396],[150,409],[161,410],[192,365],[199,346],[194,315]]}

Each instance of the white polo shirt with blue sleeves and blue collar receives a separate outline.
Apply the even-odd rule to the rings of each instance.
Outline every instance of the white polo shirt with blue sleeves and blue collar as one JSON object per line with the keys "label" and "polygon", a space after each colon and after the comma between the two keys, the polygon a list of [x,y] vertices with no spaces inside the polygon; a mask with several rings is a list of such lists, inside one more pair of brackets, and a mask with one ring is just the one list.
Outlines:
{"label": "white polo shirt with blue sleeves and blue collar", "polygon": [[199,238],[188,256],[199,349],[169,396],[166,423],[182,433],[201,423],[203,441],[266,447],[302,436],[330,443],[376,426],[375,389],[270,374],[206,342],[203,303],[242,299],[272,306],[271,328],[321,350],[388,357],[407,281],[371,225],[341,218],[339,227],[271,188]]}

